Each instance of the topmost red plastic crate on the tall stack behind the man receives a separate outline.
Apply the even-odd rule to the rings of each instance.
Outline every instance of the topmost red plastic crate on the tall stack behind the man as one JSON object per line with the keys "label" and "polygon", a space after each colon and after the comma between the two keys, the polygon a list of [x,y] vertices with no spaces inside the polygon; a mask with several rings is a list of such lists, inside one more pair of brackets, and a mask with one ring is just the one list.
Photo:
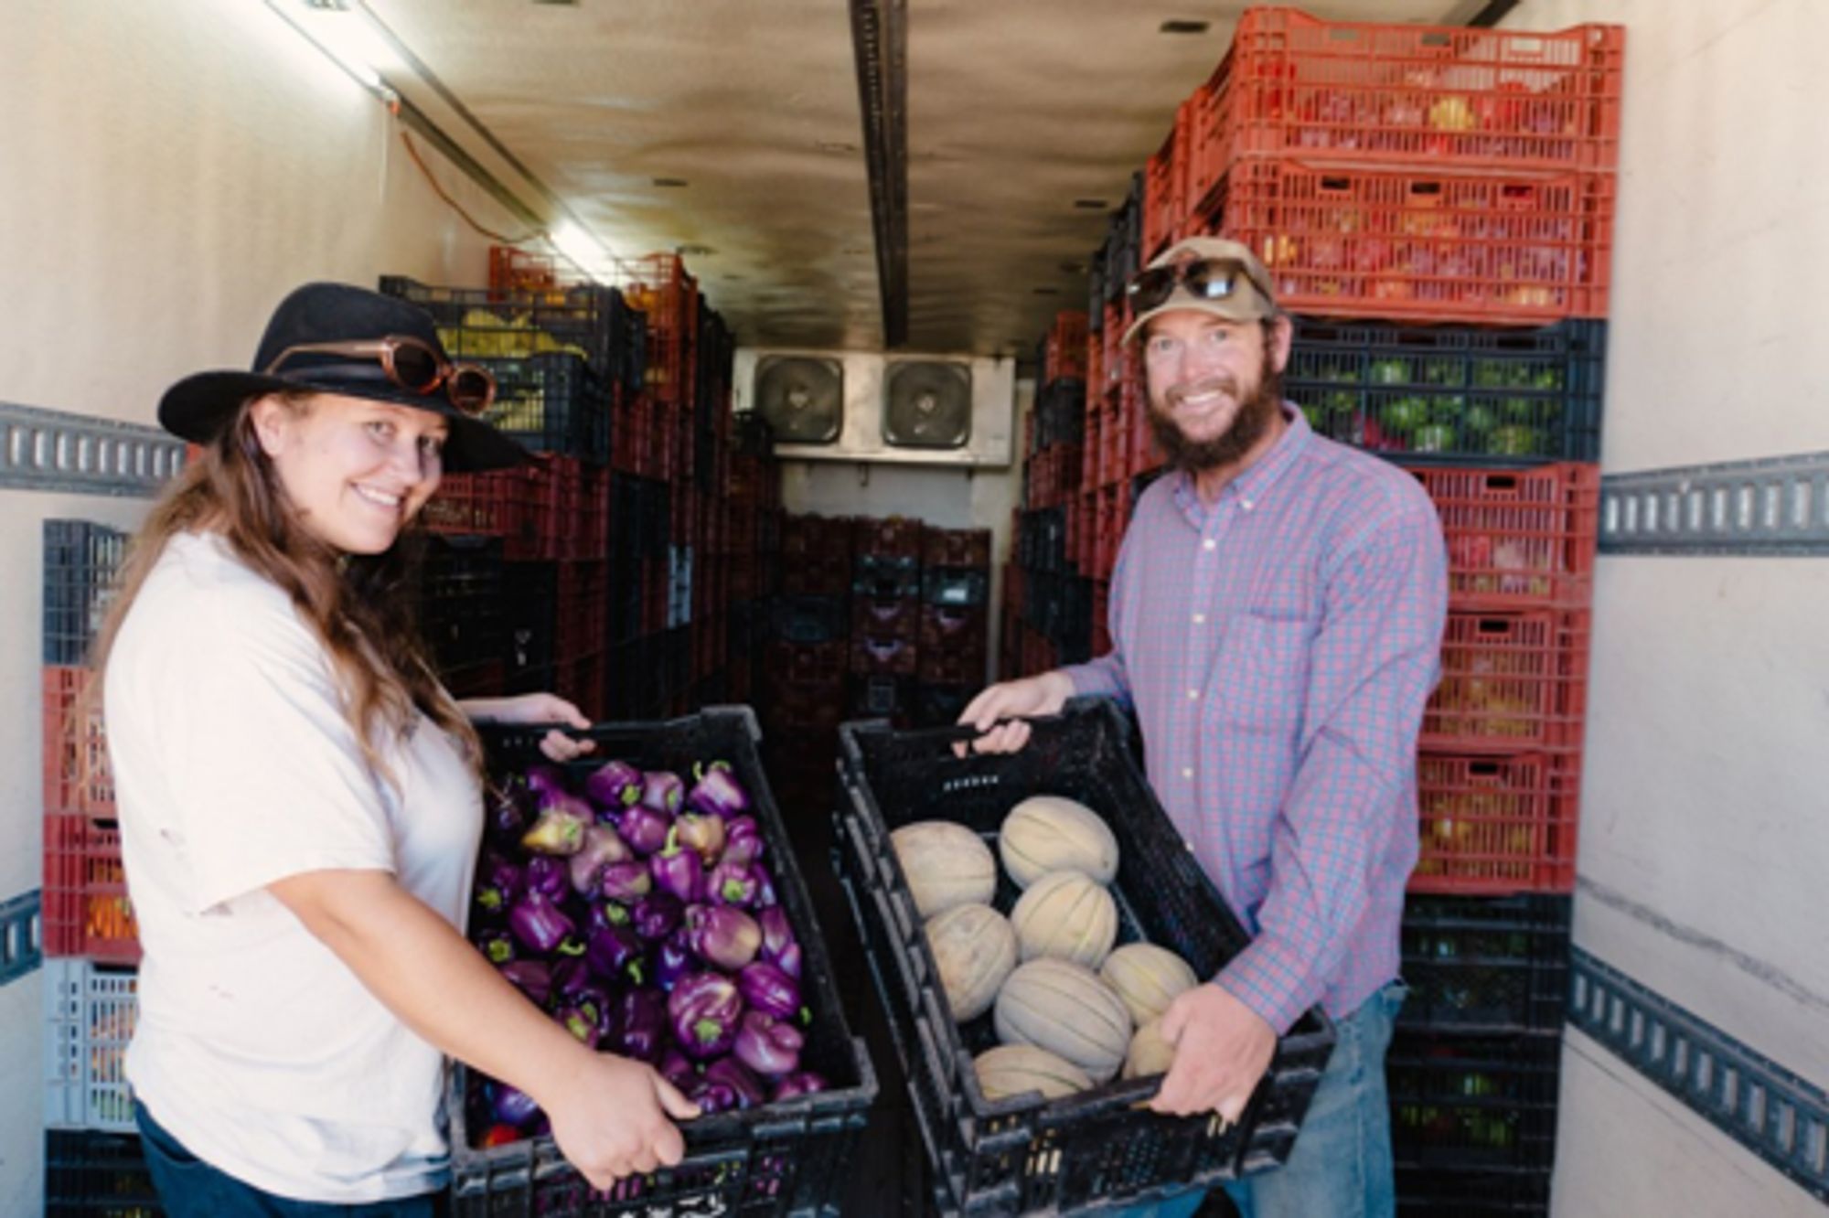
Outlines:
{"label": "topmost red plastic crate on the tall stack behind the man", "polygon": [[1191,201],[1240,157],[1611,170],[1626,29],[1324,22],[1249,9],[1196,95]]}

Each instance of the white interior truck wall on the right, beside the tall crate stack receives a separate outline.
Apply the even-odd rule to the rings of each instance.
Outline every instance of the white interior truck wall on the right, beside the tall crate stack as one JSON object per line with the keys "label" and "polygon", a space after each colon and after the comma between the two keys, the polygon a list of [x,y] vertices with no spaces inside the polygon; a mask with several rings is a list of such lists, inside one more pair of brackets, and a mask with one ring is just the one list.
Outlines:
{"label": "white interior truck wall on the right, beside the tall crate stack", "polygon": [[[1820,0],[1525,0],[1628,26],[1604,472],[1829,450]],[[1829,1083],[1829,563],[1602,558],[1575,942]],[[1569,1035],[1558,1214],[1818,1203]]]}

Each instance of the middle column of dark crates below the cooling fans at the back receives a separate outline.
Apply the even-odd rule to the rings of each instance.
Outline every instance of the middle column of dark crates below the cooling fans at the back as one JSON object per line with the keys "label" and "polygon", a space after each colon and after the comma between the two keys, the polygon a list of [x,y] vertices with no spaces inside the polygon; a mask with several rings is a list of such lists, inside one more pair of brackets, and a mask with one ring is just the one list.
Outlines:
{"label": "middle column of dark crates below the cooling fans at the back", "polygon": [[850,713],[907,721],[922,627],[922,523],[858,518],[850,532]]}

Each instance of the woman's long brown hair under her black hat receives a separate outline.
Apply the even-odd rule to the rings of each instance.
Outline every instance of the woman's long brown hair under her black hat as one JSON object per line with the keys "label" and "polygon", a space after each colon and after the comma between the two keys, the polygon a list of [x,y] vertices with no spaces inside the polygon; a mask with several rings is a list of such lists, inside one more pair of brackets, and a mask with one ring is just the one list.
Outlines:
{"label": "woman's long brown hair under her black hat", "polygon": [[[309,411],[311,393],[278,393],[291,411]],[[179,532],[221,534],[236,558],[276,583],[329,653],[344,715],[369,770],[393,781],[382,743],[412,728],[417,708],[455,737],[470,766],[481,768],[476,730],[426,662],[408,587],[412,565],[402,532],[382,554],[340,556],[305,532],[285,501],[278,475],[254,432],[251,399],[212,444],[203,446],[177,483],[154,505],[121,565],[113,604],[95,636],[90,666],[99,697],[121,622],[146,576]]]}

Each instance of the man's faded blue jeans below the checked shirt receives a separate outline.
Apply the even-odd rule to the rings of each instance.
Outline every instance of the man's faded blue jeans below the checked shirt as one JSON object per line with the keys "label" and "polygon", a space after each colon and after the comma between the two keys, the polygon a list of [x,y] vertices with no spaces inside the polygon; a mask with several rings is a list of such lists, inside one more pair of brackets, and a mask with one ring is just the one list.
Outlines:
{"label": "man's faded blue jeans below the checked shirt", "polygon": [[[1225,1185],[1242,1218],[1390,1218],[1397,1183],[1390,1165],[1390,1099],[1385,1050],[1408,988],[1390,982],[1335,1024],[1339,1039],[1302,1117],[1289,1161]],[[1203,1192],[1101,1211],[1099,1218],[1187,1218]]]}

